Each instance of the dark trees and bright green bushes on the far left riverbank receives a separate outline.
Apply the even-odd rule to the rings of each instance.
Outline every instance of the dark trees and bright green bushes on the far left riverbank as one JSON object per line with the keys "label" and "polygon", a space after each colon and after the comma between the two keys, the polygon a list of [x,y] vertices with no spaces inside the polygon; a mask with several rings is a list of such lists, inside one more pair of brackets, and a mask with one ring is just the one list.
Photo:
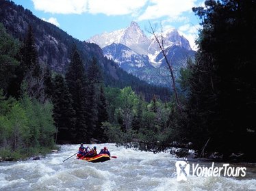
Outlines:
{"label": "dark trees and bright green bushes on the far left riverbank", "polygon": [[0,23],[0,64],[0,156],[13,160],[53,149],[53,104],[31,30],[22,44]]}

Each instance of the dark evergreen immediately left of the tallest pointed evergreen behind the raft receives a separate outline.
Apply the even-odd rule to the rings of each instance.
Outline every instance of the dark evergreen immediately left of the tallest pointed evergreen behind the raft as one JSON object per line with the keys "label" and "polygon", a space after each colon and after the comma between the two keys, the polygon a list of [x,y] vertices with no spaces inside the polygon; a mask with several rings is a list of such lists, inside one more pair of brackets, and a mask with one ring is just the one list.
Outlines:
{"label": "dark evergreen immediately left of the tallest pointed evergreen behind the raft", "polygon": [[74,142],[75,140],[75,110],[71,93],[61,74],[54,77],[53,118],[57,128],[57,143]]}

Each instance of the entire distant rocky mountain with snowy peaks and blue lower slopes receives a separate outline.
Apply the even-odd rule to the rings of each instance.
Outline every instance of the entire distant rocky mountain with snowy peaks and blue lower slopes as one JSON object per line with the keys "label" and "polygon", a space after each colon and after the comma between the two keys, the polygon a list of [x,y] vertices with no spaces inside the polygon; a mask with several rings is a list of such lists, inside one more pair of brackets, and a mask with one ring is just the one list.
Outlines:
{"label": "entire distant rocky mountain with snowy peaks and blue lower slopes", "polygon": [[[163,38],[166,55],[179,76],[179,69],[185,67],[188,57],[194,57],[188,40],[177,29],[168,29],[156,34]],[[94,35],[87,42],[98,44],[103,54],[113,59],[125,71],[155,85],[168,85],[166,61],[152,36],[148,38],[135,22],[125,29]],[[118,44],[118,45],[117,45]],[[160,71],[160,72],[159,72]]]}

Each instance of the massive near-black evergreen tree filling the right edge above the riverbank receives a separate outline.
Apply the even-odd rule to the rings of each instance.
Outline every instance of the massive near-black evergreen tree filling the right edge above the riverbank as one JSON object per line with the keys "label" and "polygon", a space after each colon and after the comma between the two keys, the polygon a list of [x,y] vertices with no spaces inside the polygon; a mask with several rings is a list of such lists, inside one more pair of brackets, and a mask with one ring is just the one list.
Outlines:
{"label": "massive near-black evergreen tree filling the right edge above the riverbank", "polygon": [[190,76],[188,132],[194,149],[250,156],[256,140],[256,50],[249,48],[256,46],[256,2],[212,0],[193,10],[203,26]]}

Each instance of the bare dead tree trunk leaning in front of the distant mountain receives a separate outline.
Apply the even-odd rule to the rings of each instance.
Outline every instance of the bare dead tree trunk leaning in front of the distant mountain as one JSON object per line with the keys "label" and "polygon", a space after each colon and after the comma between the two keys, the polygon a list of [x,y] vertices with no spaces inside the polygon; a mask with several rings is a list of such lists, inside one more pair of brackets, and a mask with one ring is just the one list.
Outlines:
{"label": "bare dead tree trunk leaning in front of the distant mountain", "polygon": [[150,22],[149,22],[149,25],[151,27],[151,32],[154,35],[155,40],[156,40],[156,42],[157,42],[157,44],[158,44],[162,54],[164,55],[164,59],[166,60],[166,63],[168,65],[168,69],[170,71],[170,76],[172,78],[172,89],[175,92],[176,103],[177,103],[178,108],[181,110],[181,105],[180,105],[180,102],[179,102],[179,96],[178,96],[176,85],[175,85],[175,75],[174,75],[174,72],[173,72],[173,69],[172,69],[172,65],[170,64],[170,61],[168,61],[168,59],[167,59],[166,50],[164,48],[164,37],[163,37],[163,34],[161,33],[160,39],[159,39],[157,37],[156,33],[155,33],[155,29],[153,29],[153,27],[152,27]]}

